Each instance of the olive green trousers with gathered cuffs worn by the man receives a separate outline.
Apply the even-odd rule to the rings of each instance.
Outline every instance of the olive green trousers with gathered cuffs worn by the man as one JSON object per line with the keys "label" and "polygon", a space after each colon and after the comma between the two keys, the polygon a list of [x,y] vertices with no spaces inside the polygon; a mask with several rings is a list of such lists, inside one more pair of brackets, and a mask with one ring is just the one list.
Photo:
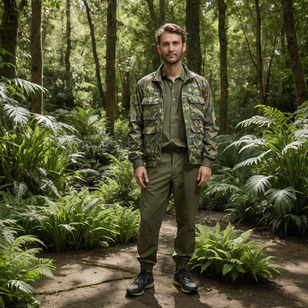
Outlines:
{"label": "olive green trousers with gathered cuffs worn by the man", "polygon": [[136,257],[140,269],[152,271],[157,262],[160,227],[172,190],[177,224],[172,259],[176,268],[186,268],[193,256],[196,215],[201,195],[201,186],[198,186],[197,181],[200,165],[186,168],[186,158],[187,152],[162,152],[161,168],[146,167],[149,181],[144,181],[146,188],[141,188],[139,203],[141,222]]}

